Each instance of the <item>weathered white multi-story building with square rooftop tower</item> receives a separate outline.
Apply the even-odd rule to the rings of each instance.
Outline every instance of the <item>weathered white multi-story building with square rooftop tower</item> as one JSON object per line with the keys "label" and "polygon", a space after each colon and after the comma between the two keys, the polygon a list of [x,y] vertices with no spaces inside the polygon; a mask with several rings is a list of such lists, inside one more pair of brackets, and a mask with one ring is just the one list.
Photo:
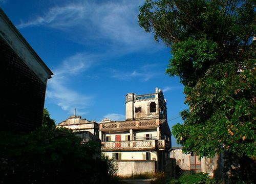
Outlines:
{"label": "weathered white multi-story building with square rooftop tower", "polygon": [[100,122],[102,152],[114,158],[119,175],[163,171],[169,159],[171,132],[162,90],[126,95],[126,120]]}

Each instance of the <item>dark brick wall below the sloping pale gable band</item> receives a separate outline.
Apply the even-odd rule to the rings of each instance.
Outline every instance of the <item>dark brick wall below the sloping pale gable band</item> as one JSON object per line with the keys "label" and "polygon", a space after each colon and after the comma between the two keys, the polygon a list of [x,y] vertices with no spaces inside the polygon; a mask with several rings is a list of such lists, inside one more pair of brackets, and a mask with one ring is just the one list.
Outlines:
{"label": "dark brick wall below the sloping pale gable band", "polygon": [[41,126],[46,85],[0,36],[0,130],[31,131]]}

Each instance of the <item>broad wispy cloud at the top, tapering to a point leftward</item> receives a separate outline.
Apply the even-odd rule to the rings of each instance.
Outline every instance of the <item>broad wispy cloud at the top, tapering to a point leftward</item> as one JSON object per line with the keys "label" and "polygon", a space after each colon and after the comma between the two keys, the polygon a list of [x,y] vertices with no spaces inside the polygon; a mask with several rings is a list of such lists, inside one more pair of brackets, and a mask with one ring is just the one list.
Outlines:
{"label": "broad wispy cloud at the top, tapering to a point leftward", "polygon": [[[148,48],[154,42],[152,35],[139,27],[138,13],[138,1],[77,1],[52,7],[34,19],[22,21],[17,28],[58,29],[80,44],[104,45],[101,50],[129,53]],[[157,49],[155,45],[154,50]]]}

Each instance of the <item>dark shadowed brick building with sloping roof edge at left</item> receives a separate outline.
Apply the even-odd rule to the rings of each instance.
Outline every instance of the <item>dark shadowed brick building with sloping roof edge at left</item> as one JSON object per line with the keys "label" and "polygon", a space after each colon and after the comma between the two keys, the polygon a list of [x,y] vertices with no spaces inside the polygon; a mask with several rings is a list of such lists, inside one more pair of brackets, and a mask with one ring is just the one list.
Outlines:
{"label": "dark shadowed brick building with sloping roof edge at left", "polygon": [[41,126],[47,80],[53,73],[0,8],[0,130]]}

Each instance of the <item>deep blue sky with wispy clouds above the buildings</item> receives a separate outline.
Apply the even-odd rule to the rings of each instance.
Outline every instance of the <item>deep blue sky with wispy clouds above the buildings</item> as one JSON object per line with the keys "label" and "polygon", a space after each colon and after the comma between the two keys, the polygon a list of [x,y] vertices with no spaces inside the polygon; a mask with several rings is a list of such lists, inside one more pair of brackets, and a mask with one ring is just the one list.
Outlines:
{"label": "deep blue sky with wispy clouds above the buildings", "polygon": [[0,0],[54,73],[45,107],[56,123],[75,108],[88,120],[124,120],[125,95],[154,93],[156,87],[167,99],[169,126],[182,123],[183,85],[165,74],[170,49],[138,25],[143,2]]}

